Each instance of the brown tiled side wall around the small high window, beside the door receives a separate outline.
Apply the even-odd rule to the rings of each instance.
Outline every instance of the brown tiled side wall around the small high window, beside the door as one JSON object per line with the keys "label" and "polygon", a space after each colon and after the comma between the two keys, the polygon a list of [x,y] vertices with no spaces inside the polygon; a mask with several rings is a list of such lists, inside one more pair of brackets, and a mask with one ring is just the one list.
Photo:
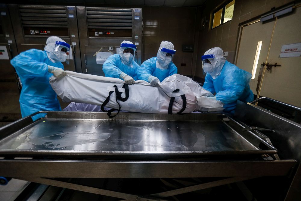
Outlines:
{"label": "brown tiled side wall around the small high window, beside the door", "polygon": [[[227,60],[234,63],[239,23],[260,16],[270,11],[271,8],[278,8],[292,2],[292,0],[235,0],[233,19],[219,27],[210,29],[212,26],[210,15],[223,2],[225,1],[207,1],[201,8],[202,17],[206,16],[208,22],[206,28],[200,30],[197,55],[203,55],[210,48],[221,47],[224,52],[228,51]],[[200,57],[197,57],[195,76],[203,77]]]}

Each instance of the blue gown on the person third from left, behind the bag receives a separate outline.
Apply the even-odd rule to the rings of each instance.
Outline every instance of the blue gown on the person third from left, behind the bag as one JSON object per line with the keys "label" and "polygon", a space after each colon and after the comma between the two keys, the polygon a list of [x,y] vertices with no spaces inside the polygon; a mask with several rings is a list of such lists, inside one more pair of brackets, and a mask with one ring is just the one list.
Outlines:
{"label": "blue gown on the person third from left, behind the bag", "polygon": [[166,77],[178,73],[178,68],[174,63],[170,62],[167,69],[160,69],[156,67],[157,57],[152,57],[141,64],[140,68],[137,70],[137,75],[139,80],[148,81],[148,77],[155,76],[160,82],[162,82]]}

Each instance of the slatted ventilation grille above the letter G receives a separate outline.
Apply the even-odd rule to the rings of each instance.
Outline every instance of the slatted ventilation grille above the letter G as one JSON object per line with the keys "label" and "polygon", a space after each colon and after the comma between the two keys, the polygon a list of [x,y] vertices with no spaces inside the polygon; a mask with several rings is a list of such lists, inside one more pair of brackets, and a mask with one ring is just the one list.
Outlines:
{"label": "slatted ventilation grille above the letter G", "polygon": [[19,8],[23,27],[67,28],[65,6],[20,5]]}

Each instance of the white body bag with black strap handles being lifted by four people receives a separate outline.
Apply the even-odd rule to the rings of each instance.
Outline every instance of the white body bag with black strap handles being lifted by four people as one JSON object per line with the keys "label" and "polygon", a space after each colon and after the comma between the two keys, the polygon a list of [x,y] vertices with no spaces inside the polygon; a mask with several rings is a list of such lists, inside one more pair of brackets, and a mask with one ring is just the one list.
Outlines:
{"label": "white body bag with black strap handles being lifted by four people", "polygon": [[[108,111],[126,110],[143,113],[190,113],[193,111],[222,111],[222,102],[209,99],[213,94],[204,90],[190,78],[174,74],[156,87],[144,80],[127,85],[123,80],[90,74],[65,71],[62,78],[50,77],[50,84],[65,102],[87,103],[113,108]],[[118,114],[118,113],[117,113]]]}

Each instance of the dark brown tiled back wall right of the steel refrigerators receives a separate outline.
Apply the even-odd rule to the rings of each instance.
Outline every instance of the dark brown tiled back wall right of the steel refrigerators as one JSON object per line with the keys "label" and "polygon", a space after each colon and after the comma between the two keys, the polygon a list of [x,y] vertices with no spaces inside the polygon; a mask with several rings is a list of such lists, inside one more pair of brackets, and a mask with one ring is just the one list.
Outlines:
{"label": "dark brown tiled back wall right of the steel refrigerators", "polygon": [[193,52],[183,52],[182,45],[194,44],[196,8],[140,7],[144,23],[144,60],[157,55],[161,41],[170,41],[176,50],[173,62],[178,74],[191,75]]}

